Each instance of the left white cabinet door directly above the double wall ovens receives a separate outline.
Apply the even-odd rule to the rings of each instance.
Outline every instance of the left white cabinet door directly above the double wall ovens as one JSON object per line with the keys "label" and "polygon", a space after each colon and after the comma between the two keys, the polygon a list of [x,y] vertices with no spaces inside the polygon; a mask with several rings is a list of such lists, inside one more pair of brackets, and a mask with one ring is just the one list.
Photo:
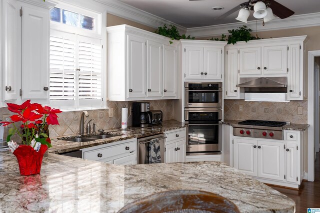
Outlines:
{"label": "left white cabinet door directly above the double wall ovens", "polygon": [[203,79],[203,48],[186,46],[184,65],[185,79]]}

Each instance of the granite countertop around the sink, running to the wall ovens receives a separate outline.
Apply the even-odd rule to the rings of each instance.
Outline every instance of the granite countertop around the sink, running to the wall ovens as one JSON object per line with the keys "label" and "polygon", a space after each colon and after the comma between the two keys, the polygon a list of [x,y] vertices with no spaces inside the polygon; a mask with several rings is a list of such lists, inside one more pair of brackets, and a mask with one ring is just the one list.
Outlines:
{"label": "granite countertop around the sink, running to the wall ovens", "polygon": [[[183,128],[187,125],[184,123],[180,123],[175,120],[168,120],[163,121],[162,125],[140,128],[140,127],[128,127],[127,129],[123,130],[121,128],[114,128],[114,129],[107,129],[104,133],[114,135],[114,137],[106,138],[106,139],[99,139],[89,142],[70,142],[65,141],[63,139],[74,138],[79,135],[70,135],[70,136],[63,136],[51,139],[52,148],[48,149],[48,152],[60,154],[70,151],[75,151],[87,147],[108,144],[116,141],[126,140],[130,138],[142,138],[147,137],[150,135],[162,134],[163,132]],[[94,135],[94,134],[90,134]],[[84,135],[82,137],[87,137],[89,135]],[[59,139],[61,140],[59,140]]]}

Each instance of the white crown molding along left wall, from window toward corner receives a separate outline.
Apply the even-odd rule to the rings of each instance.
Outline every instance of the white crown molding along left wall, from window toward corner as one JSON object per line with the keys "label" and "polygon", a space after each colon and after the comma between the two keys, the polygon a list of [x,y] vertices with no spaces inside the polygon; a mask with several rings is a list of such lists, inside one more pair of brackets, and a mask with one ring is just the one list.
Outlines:
{"label": "white crown molding along left wall, from window toward corner", "polygon": [[94,1],[106,5],[107,13],[132,20],[132,21],[147,25],[149,27],[157,28],[158,26],[162,26],[164,24],[167,24],[167,25],[172,24],[176,26],[180,34],[184,34],[187,29],[183,26],[177,25],[176,23],[165,20],[156,15],[137,9],[128,4],[122,3],[120,1],[115,1],[115,0],[94,0]]}

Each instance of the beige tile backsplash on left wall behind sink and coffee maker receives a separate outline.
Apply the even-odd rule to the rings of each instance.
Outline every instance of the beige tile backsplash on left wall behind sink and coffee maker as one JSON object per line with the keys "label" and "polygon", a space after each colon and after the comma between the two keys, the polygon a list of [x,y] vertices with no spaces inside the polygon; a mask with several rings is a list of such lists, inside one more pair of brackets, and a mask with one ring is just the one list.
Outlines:
{"label": "beige tile backsplash on left wall behind sink and coffee maker", "polygon": [[[141,102],[149,102],[150,110],[161,110],[164,121],[173,119],[173,100],[149,100]],[[84,127],[90,119],[94,119],[94,121],[90,122],[91,129],[93,123],[97,125],[96,130],[121,127],[121,108],[123,105],[132,108],[132,101],[107,101],[106,104],[108,108],[113,108],[113,117],[109,117],[109,109],[87,110],[89,116],[84,120]],[[59,113],[58,121],[60,125],[50,125],[50,137],[78,134],[81,113],[82,111]],[[2,119],[3,115],[12,115],[12,113],[6,107],[3,107],[0,108],[0,115]],[[128,126],[131,125],[132,114],[129,116],[128,112]],[[5,128],[4,138],[7,136],[7,131],[8,128]]]}

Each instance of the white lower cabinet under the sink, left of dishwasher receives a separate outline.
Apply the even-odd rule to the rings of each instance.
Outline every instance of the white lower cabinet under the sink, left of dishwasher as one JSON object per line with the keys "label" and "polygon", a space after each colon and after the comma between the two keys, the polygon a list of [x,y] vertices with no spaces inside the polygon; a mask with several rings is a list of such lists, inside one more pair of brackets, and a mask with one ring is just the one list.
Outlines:
{"label": "white lower cabinet under the sink, left of dishwasher", "polygon": [[136,138],[84,148],[82,158],[107,164],[136,164]]}

